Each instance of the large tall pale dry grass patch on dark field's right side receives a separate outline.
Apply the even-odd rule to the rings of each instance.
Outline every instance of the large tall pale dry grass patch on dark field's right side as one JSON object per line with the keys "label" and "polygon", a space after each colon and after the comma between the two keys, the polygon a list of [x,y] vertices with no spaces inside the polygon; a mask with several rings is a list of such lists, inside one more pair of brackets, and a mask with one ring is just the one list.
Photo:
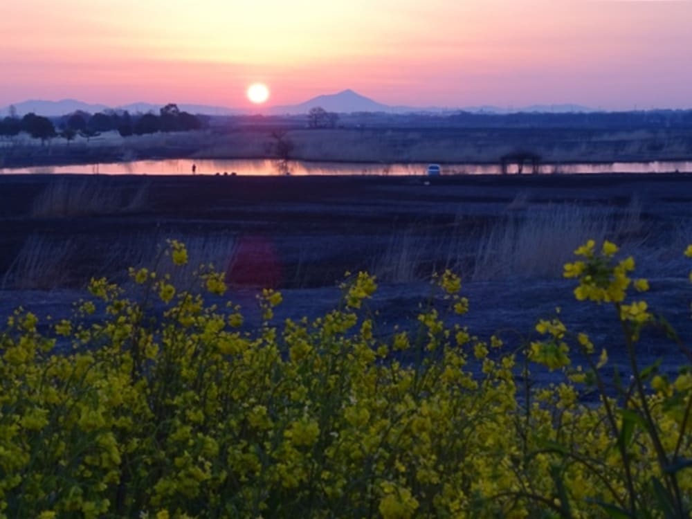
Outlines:
{"label": "large tall pale dry grass patch on dark field's right side", "polygon": [[520,192],[504,217],[485,230],[469,232],[468,225],[457,219],[444,233],[439,229],[426,233],[422,228],[398,233],[375,256],[370,271],[391,283],[424,280],[444,268],[475,281],[556,279],[573,259],[574,249],[588,239],[614,240],[628,253],[641,249],[648,239],[636,198],[625,208],[531,206],[529,198]]}

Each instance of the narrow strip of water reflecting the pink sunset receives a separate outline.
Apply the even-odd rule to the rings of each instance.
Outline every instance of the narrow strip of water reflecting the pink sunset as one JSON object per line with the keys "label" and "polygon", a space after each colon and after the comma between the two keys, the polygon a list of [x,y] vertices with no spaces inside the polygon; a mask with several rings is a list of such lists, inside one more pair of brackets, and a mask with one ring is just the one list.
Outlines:
{"label": "narrow strip of water reflecting the pink sunset", "polygon": [[[21,174],[163,174],[189,175],[192,166],[196,174],[238,175],[422,175],[427,163],[334,163],[307,161],[277,161],[274,159],[189,159],[176,158],[161,161],[131,161],[81,165],[35,166],[17,169],[0,168],[2,173]],[[442,164],[442,174],[500,174],[499,164]],[[508,173],[516,174],[516,164],[509,165]],[[531,165],[523,174],[530,174]],[[652,161],[615,163],[541,163],[540,174],[594,174],[594,173],[692,173],[692,161]]]}

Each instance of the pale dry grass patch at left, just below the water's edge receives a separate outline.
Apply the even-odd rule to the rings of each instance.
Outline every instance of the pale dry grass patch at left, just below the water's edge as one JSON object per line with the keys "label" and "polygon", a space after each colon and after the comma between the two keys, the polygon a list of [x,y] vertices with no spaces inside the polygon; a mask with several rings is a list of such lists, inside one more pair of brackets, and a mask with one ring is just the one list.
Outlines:
{"label": "pale dry grass patch at left, just below the water's edge", "polygon": [[148,191],[145,184],[133,193],[114,188],[108,179],[60,179],[48,184],[36,197],[31,216],[53,218],[139,212],[147,208]]}

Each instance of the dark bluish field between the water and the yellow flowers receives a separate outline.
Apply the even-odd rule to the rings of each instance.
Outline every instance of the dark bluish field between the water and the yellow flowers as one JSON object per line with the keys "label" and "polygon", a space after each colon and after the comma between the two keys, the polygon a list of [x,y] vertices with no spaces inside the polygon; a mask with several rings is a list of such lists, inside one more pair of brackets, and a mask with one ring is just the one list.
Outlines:
{"label": "dark bluish field between the water and the yellow flowers", "polygon": [[[24,304],[68,316],[91,276],[127,282],[152,265],[167,238],[192,264],[226,271],[228,298],[253,322],[260,286],[284,293],[277,318],[316,316],[338,304],[345,271],[367,270],[379,333],[415,321],[430,274],[453,268],[471,300],[463,324],[479,336],[504,330],[508,347],[562,307],[617,364],[614,310],[574,300],[562,265],[588,238],[608,238],[648,277],[650,307],[683,337],[692,332],[692,176],[210,177],[0,176],[0,310]],[[160,263],[161,268],[166,268]],[[186,286],[192,268],[175,272]],[[509,331],[511,330],[511,331]],[[597,345],[598,346],[598,345]],[[641,353],[677,356],[662,333]],[[675,360],[674,360],[675,359]]]}

